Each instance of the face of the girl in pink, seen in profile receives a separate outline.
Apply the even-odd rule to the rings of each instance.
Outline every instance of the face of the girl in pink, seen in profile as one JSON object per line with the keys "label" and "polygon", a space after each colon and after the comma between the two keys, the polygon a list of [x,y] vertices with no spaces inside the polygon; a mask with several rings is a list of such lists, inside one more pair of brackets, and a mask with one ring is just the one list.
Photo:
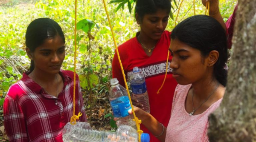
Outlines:
{"label": "face of the girl in pink, seen in profile", "polygon": [[198,49],[175,39],[171,41],[169,50],[172,54],[172,77],[180,85],[200,82],[211,77],[212,72],[208,68],[209,57],[202,57]]}

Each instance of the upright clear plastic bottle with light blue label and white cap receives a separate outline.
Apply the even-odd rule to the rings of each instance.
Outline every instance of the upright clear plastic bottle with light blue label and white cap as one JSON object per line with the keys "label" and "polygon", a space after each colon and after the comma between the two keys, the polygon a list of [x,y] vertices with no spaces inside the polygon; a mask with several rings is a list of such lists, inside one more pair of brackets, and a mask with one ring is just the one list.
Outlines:
{"label": "upright clear plastic bottle with light blue label and white cap", "polygon": [[126,89],[118,84],[119,82],[116,78],[111,79],[110,82],[109,100],[114,117],[119,118],[116,121],[117,127],[120,125],[129,125],[137,129],[135,121],[132,120],[134,117],[128,113],[131,109],[131,103]]}

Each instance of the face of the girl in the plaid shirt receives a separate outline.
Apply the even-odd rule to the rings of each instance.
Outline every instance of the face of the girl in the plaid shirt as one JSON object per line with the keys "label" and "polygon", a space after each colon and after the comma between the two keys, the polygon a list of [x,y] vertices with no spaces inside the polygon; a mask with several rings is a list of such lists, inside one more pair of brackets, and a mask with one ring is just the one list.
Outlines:
{"label": "face of the girl in the plaid shirt", "polygon": [[65,58],[64,42],[59,35],[46,39],[41,46],[30,53],[29,57],[34,61],[35,69],[48,74],[57,74]]}

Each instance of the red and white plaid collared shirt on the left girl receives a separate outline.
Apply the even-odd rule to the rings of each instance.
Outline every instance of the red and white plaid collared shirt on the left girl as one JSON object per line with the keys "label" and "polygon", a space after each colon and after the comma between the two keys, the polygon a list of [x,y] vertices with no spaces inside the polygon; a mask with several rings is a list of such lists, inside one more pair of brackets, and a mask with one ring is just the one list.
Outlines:
{"label": "red and white plaid collared shirt on the left girl", "polygon": [[[64,88],[58,98],[47,94],[26,73],[12,85],[3,104],[4,126],[11,142],[62,142],[62,130],[73,116],[73,72],[60,71]],[[86,122],[76,75],[76,115]]]}

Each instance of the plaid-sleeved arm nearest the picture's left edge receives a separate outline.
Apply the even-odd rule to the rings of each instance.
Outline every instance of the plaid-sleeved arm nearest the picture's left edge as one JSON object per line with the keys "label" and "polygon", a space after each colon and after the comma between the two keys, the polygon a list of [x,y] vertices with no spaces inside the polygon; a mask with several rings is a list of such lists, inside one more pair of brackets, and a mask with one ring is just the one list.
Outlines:
{"label": "plaid-sleeved arm nearest the picture's left edge", "polygon": [[20,105],[8,94],[3,104],[4,127],[10,142],[28,142],[26,120]]}

